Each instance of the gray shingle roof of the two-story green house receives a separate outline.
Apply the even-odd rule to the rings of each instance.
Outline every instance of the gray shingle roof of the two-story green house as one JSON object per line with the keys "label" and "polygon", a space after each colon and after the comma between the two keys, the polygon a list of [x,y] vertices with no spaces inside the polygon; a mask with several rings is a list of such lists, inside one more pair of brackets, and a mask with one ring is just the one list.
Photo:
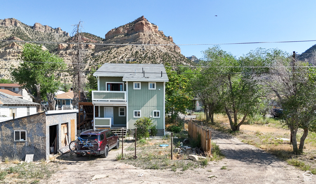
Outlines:
{"label": "gray shingle roof of the two-story green house", "polygon": [[121,76],[123,81],[168,81],[163,64],[104,63],[93,76]]}

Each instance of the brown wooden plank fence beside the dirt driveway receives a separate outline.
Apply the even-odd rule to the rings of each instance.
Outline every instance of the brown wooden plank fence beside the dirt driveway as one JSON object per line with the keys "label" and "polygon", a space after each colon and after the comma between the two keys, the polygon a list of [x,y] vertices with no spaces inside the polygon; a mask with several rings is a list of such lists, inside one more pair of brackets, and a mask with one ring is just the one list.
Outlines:
{"label": "brown wooden plank fence beside the dirt driveway", "polygon": [[211,152],[211,130],[204,129],[192,121],[188,121],[188,132],[191,139],[197,139],[197,133],[201,135],[201,150],[206,154]]}

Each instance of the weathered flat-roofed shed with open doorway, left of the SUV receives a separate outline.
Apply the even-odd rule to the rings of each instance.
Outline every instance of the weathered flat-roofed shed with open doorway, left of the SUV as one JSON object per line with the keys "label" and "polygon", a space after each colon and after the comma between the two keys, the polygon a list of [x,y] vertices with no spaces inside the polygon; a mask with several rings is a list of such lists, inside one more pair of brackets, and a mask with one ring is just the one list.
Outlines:
{"label": "weathered flat-roofed shed with open doorway, left of the SUV", "polygon": [[0,122],[0,157],[49,159],[76,136],[78,110],[50,110]]}

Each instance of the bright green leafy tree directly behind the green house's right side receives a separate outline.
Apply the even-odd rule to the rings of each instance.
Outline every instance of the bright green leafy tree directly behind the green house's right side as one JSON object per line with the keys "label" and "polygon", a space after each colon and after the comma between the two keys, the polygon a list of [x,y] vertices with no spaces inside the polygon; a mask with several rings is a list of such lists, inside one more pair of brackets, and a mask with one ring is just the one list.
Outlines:
{"label": "bright green leafy tree directly behind the green house's right side", "polygon": [[189,88],[191,70],[178,68],[177,71],[166,67],[169,82],[166,83],[166,113],[171,113],[172,119],[178,114],[185,114],[185,109],[192,106],[191,89]]}

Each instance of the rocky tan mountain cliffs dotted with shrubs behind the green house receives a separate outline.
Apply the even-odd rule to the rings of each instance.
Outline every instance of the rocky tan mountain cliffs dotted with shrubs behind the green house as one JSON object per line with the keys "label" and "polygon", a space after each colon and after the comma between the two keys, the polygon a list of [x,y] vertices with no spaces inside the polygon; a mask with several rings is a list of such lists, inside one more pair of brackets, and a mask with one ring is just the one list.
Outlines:
{"label": "rocky tan mountain cliffs dotted with shrubs behind the green house", "polygon": [[[111,29],[105,34],[105,39],[90,33],[82,33],[83,42],[101,44],[138,44],[138,45],[86,45],[85,61],[93,64],[114,63],[170,63],[171,65],[192,65],[190,59],[181,54],[180,48],[173,43],[171,36],[165,36],[158,26],[150,23],[144,16],[120,27]],[[0,20],[0,39],[24,40],[24,41],[47,41],[73,43],[73,37],[61,28],[52,28],[35,23],[28,26],[14,18]],[[151,44],[142,46],[140,44]],[[156,46],[157,44],[164,44]],[[71,62],[73,44],[43,44],[43,49],[58,54],[65,62]],[[16,60],[21,54],[22,43],[0,42],[0,68],[9,68],[17,65]],[[70,66],[70,65],[69,65]],[[89,70],[95,65],[87,65]],[[0,69],[0,78],[10,78],[9,71]],[[70,80],[70,74],[60,74]],[[68,77],[67,77],[68,76]],[[68,80],[68,81],[69,81]]]}

